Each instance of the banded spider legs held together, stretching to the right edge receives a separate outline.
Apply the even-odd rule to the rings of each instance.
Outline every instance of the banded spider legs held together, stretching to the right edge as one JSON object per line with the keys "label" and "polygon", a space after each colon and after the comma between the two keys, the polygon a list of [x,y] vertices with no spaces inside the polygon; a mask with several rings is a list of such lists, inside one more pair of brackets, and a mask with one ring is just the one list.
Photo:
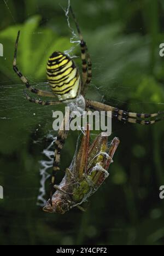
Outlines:
{"label": "banded spider legs held together, stretching to the right edge", "polygon": [[[98,110],[98,111],[111,111],[112,118],[118,119],[119,121],[122,121],[124,123],[128,122],[133,124],[149,125],[164,119],[164,117],[159,118],[159,116],[164,112],[159,112],[154,114],[139,114],[139,113],[127,112],[119,108],[115,108],[97,101],[86,100],[86,107],[91,108],[93,110]],[[147,120],[148,118],[149,120]],[[151,118],[155,118],[155,119],[150,120]]]}

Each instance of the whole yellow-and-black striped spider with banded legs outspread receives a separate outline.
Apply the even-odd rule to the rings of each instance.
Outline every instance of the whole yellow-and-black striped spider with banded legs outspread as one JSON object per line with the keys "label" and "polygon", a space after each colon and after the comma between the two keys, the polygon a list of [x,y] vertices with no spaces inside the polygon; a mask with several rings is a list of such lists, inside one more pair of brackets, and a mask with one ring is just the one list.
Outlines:
{"label": "whole yellow-and-black striped spider with banded legs outspread", "polygon": [[[61,53],[60,51],[54,51],[49,57],[46,66],[46,75],[48,82],[51,88],[50,91],[43,91],[33,88],[26,77],[20,72],[17,68],[16,56],[17,56],[17,44],[19,42],[20,31],[17,33],[16,43],[15,43],[15,53],[13,61],[13,69],[22,82],[26,85],[26,88],[37,94],[38,96],[48,96],[48,97],[57,97],[58,100],[54,101],[42,101],[40,99],[31,98],[27,92],[24,90],[26,98],[28,101],[41,104],[41,105],[57,105],[57,104],[68,104],[72,103],[77,108],[80,107],[83,110],[91,109],[98,111],[111,111],[112,118],[118,119],[124,123],[133,123],[141,125],[154,124],[161,119],[158,118],[159,115],[163,112],[155,114],[139,114],[132,113],[121,110],[119,108],[109,106],[107,104],[93,101],[85,97],[85,91],[87,85],[90,84],[92,78],[92,62],[89,51],[87,49],[86,42],[83,39],[81,34],[77,19],[75,18],[72,7],[70,7],[72,18],[74,20],[75,26],[80,39],[80,49],[81,49],[81,61],[82,61],[82,73],[80,75],[78,67],[75,65],[75,62],[68,57],[66,54]],[[55,141],[55,154],[54,154],[54,165],[52,170],[51,178],[51,196],[55,184],[55,173],[60,170],[60,155],[63,145],[65,144],[68,132],[58,131],[57,139]]]}

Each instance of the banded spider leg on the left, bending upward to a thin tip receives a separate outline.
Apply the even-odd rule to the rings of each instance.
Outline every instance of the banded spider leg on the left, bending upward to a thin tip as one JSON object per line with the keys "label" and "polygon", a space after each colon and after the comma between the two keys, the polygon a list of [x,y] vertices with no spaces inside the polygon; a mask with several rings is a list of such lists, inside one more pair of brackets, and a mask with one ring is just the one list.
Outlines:
{"label": "banded spider leg on the left, bending upward to a thin tip", "polygon": [[22,80],[22,82],[26,85],[27,89],[30,90],[31,92],[33,92],[34,94],[37,94],[39,96],[56,97],[52,92],[38,90],[36,88],[33,88],[30,85],[30,83],[28,82],[27,78],[24,77],[24,75],[17,68],[16,56],[17,56],[17,45],[18,45],[18,41],[19,41],[19,36],[20,36],[20,31],[17,33],[16,43],[15,43],[15,53],[14,53],[14,61],[13,61],[13,69],[14,69],[15,73],[19,76],[19,78]]}

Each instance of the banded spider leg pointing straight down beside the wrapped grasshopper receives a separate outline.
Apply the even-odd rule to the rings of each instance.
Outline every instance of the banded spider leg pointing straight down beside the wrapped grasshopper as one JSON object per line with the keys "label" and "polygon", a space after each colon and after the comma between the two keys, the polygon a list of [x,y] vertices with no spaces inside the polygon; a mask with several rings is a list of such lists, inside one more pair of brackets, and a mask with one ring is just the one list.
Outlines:
{"label": "banded spider leg pointing straight down beside the wrapped grasshopper", "polygon": [[54,164],[52,170],[52,177],[51,177],[51,191],[50,191],[50,202],[52,205],[52,195],[54,193],[54,185],[55,185],[55,174],[57,171],[60,171],[60,156],[62,148],[66,142],[68,132],[69,132],[69,122],[70,122],[70,115],[69,112],[66,112],[65,117],[63,118],[62,124],[60,129],[57,133],[57,138],[55,141],[55,152],[54,152]]}

